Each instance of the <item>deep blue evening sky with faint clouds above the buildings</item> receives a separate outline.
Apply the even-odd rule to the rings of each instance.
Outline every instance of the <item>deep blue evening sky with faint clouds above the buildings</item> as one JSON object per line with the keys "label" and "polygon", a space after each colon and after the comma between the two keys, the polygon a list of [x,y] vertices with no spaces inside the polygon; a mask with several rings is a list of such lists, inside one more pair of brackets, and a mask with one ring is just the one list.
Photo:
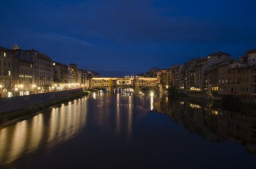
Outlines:
{"label": "deep blue evening sky with faint clouds above the buildings", "polygon": [[16,42],[101,75],[131,75],[256,48],[255,7],[255,0],[1,1],[0,46]]}

